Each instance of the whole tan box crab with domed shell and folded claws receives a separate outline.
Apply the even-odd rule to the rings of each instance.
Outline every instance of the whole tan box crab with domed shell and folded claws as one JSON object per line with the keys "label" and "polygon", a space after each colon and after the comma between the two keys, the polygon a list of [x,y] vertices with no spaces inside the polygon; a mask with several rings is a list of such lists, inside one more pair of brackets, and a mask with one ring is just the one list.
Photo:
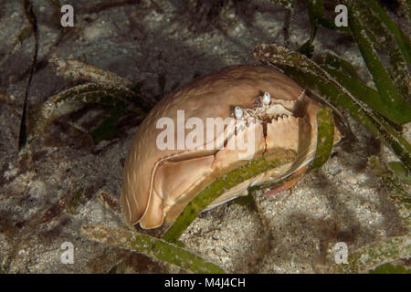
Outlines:
{"label": "whole tan box crab with domed shell and folded claws", "polygon": [[[224,148],[159,150],[156,145],[163,131],[156,128],[156,123],[162,117],[171,118],[176,125],[177,110],[184,110],[185,120],[196,117],[205,124],[206,118],[219,117],[233,125],[237,123],[233,115],[236,107],[256,109],[256,101],[258,104],[265,92],[271,97],[269,119],[247,124],[243,130],[228,125],[224,130],[215,129],[213,137],[224,137]],[[284,150],[295,151],[295,159],[238,184],[208,208],[246,195],[251,185],[279,181],[299,171],[315,156],[319,108],[320,104],[310,99],[299,84],[272,68],[235,66],[195,79],[161,100],[137,130],[124,165],[121,208],[126,220],[146,229],[161,226],[164,220],[173,221],[208,184],[243,165],[239,150],[227,149],[227,141],[237,140],[250,130],[255,133],[255,150],[248,159],[263,153],[281,158]],[[185,129],[184,134],[188,132]],[[177,141],[177,130],[174,138]],[[214,140],[205,139],[205,144]]]}

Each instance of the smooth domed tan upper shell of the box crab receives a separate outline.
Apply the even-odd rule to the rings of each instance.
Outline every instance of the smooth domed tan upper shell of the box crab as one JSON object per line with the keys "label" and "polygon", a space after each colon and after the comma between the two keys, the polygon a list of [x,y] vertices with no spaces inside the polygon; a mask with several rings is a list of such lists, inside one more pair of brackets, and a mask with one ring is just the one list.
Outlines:
{"label": "smooth domed tan upper shell of the box crab", "polygon": [[[256,97],[266,91],[271,94],[272,99],[294,100],[300,97],[303,89],[295,81],[272,68],[236,66],[195,79],[183,89],[161,100],[142,121],[124,165],[121,207],[126,219],[131,224],[142,221],[141,225],[144,228],[153,228],[160,221],[160,224],[163,223],[162,216],[155,214],[156,206],[163,202],[150,196],[152,175],[157,162],[184,153],[184,158],[188,159],[205,157],[216,152],[159,151],[156,147],[156,137],[162,130],[155,128],[158,119],[169,117],[176,120],[177,110],[184,110],[185,120],[190,117],[202,120],[217,117],[225,119],[235,106],[252,108]],[[182,160],[181,157],[179,159]],[[206,162],[206,159],[201,162],[203,161]],[[183,181],[178,183],[184,183],[184,178],[181,180]],[[157,201],[154,202],[155,200]],[[145,221],[142,220],[144,217],[147,217]]]}

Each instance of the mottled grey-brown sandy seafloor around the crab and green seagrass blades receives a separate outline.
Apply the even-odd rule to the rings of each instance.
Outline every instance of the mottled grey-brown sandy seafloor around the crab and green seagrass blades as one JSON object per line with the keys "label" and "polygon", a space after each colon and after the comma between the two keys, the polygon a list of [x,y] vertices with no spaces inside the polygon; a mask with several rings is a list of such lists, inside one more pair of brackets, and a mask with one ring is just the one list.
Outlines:
{"label": "mottled grey-brown sandy seafloor around the crab and green seagrass blades", "polygon": [[[75,27],[61,37],[52,1],[34,1],[39,51],[30,109],[75,85],[56,75],[48,62],[52,56],[110,70],[136,84],[143,80],[142,95],[155,101],[195,76],[254,64],[252,51],[258,43],[286,45],[282,29],[286,10],[269,1],[227,1],[218,13],[211,5],[195,8],[188,1],[103,2],[75,1]],[[32,159],[19,157],[16,141],[33,52],[33,37],[16,44],[25,26],[21,3],[1,1],[0,272],[107,272],[119,263],[117,271],[122,272],[185,272],[79,235],[83,224],[122,227],[96,199],[96,192],[104,188],[120,196],[121,162],[138,118],[127,117],[119,137],[95,146],[87,134],[59,121],[45,139],[32,145]],[[308,39],[309,27],[306,9],[298,2],[290,25],[291,49]],[[314,45],[316,52],[331,49],[352,62],[372,85],[351,38],[320,28]],[[159,78],[165,78],[163,92]],[[92,127],[88,115],[99,110],[85,112],[71,118]],[[185,246],[227,272],[332,273],[339,271],[332,254],[337,242],[346,243],[353,253],[395,236],[405,238],[406,209],[368,163],[372,156],[382,162],[395,156],[345,116],[358,141],[336,146],[331,159],[291,191],[257,195],[254,207],[226,203],[201,214],[182,236]],[[72,208],[75,197],[78,203]],[[63,242],[75,247],[72,265],[60,261]],[[409,258],[406,250],[401,248],[391,259]]]}

